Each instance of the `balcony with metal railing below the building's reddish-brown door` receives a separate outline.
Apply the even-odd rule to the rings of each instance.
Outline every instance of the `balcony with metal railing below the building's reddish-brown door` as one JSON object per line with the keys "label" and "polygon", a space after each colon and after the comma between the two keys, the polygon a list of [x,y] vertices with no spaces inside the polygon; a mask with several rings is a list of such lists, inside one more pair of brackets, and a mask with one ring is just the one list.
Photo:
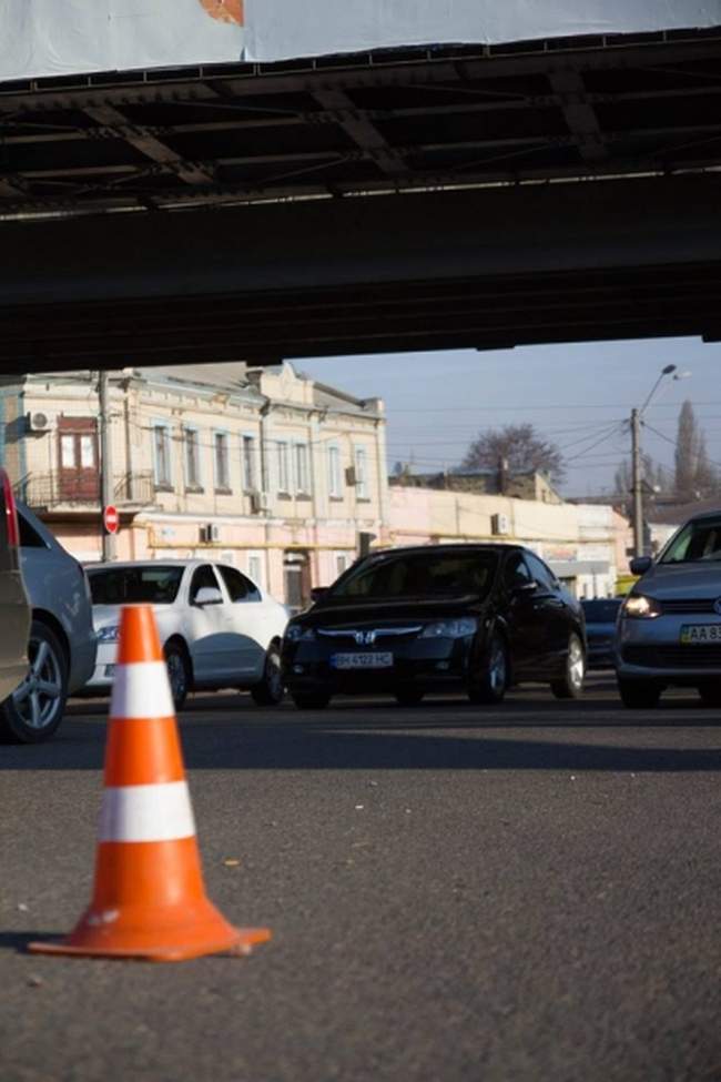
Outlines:
{"label": "balcony with metal railing below the building's reddish-brown door", "polygon": [[[18,499],[37,513],[99,512],[100,476],[69,478],[58,473],[30,473],[14,485]],[[155,500],[152,472],[115,477],[113,503],[124,512],[139,510]]]}

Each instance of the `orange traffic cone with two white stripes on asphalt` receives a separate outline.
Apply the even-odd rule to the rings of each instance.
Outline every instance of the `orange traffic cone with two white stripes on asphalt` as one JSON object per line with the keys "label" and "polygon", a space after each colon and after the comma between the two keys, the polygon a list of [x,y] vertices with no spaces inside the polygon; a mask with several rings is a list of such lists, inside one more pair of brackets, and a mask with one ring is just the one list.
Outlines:
{"label": "orange traffic cone with two white stripes on asphalt", "polygon": [[205,894],[167,670],[150,606],[122,610],[92,901],[43,954],[179,962],[271,938]]}

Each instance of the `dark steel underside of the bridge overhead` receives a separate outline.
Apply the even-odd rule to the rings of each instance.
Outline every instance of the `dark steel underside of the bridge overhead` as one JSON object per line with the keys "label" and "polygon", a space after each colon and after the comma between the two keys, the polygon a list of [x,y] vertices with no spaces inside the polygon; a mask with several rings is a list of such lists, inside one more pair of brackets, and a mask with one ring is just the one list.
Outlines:
{"label": "dark steel underside of the bridge overhead", "polygon": [[721,37],[0,85],[0,370],[721,333]]}

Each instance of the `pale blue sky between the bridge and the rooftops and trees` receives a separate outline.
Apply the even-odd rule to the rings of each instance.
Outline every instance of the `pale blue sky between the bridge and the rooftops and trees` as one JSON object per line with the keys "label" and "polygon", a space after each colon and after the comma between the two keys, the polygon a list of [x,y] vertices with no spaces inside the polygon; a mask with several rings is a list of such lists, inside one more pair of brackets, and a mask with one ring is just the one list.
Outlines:
{"label": "pale blue sky between the bridge and the rooftops and trees", "polygon": [[531,422],[567,463],[567,496],[613,491],[613,473],[630,456],[628,419],[641,407],[661,368],[664,376],[644,413],[642,447],[673,465],[677,421],[689,398],[721,466],[721,343],[653,338],[522,346],[478,352],[321,357],[294,362],[323,383],[360,398],[380,397],[387,416],[388,468],[453,468],[484,428]]}

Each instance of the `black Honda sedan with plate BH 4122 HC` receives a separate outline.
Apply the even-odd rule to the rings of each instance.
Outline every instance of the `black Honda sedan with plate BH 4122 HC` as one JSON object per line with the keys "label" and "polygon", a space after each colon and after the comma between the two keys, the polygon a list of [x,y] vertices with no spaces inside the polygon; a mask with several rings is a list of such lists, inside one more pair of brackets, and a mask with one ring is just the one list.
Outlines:
{"label": "black Honda sedan with plate BH 4122 HC", "polygon": [[521,680],[548,681],[558,698],[582,689],[580,605],[519,546],[387,549],[313,597],[283,639],[284,680],[301,709],[377,691],[410,706],[457,688],[499,702]]}

